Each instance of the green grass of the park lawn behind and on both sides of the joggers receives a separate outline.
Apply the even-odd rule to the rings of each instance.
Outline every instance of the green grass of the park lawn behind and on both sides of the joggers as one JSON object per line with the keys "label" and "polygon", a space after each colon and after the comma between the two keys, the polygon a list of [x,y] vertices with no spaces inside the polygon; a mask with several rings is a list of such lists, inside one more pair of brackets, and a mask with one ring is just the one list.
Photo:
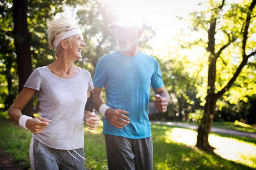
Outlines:
{"label": "green grass of the park lawn behind and on both sides of the joggers", "polygon": [[[2,117],[2,118],[1,118]],[[89,170],[107,170],[103,123],[96,130],[84,125],[84,150]],[[29,143],[32,133],[0,116],[0,147],[29,168]],[[256,139],[211,133],[215,153],[197,149],[196,131],[186,128],[151,125],[154,144],[154,170],[252,170],[256,168]]]}

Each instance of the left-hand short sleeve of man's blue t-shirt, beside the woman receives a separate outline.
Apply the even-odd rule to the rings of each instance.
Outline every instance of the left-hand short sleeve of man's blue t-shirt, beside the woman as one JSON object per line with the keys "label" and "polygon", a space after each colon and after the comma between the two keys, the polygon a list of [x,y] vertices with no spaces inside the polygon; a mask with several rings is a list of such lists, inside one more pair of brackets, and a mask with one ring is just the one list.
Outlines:
{"label": "left-hand short sleeve of man's blue t-shirt, beside the woman", "polygon": [[107,70],[105,68],[104,60],[101,57],[95,69],[95,73],[93,77],[93,85],[95,85],[98,88],[103,88],[106,81],[107,81]]}

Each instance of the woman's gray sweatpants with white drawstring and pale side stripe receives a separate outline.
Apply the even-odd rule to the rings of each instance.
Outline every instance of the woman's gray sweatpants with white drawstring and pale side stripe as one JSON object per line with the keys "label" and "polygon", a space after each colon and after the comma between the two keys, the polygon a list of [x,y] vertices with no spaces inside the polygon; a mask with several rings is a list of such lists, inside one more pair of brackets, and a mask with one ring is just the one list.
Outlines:
{"label": "woman's gray sweatpants with white drawstring and pale side stripe", "polygon": [[73,158],[67,150],[48,147],[32,137],[29,149],[29,159],[32,170],[85,170],[84,148],[69,150],[77,159]]}

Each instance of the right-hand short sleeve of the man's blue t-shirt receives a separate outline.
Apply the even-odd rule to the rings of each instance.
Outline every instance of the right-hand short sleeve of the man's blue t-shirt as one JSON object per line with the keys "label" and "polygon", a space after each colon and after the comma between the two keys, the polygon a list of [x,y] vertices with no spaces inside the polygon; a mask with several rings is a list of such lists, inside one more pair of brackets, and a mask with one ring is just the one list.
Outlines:
{"label": "right-hand short sleeve of the man's blue t-shirt", "polygon": [[154,63],[154,73],[151,77],[151,86],[153,89],[161,88],[164,86],[162,79],[162,72],[157,60]]}

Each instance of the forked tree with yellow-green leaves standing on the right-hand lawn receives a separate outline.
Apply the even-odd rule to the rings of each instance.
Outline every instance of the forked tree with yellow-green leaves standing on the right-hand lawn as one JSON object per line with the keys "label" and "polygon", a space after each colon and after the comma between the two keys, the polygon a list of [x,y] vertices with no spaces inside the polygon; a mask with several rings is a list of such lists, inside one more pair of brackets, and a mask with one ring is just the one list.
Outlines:
{"label": "forked tree with yellow-green leaves standing on the right-hand lawn", "polygon": [[[204,105],[204,115],[201,119],[201,123],[198,127],[198,136],[197,136],[197,144],[196,146],[203,149],[212,151],[214,148],[210,146],[208,141],[208,136],[210,132],[210,128],[212,126],[212,121],[215,114],[216,102],[217,100],[227,92],[231,86],[234,84],[235,80],[239,76],[240,72],[247,64],[248,59],[251,56],[256,54],[255,47],[251,47],[248,41],[248,33],[253,34],[255,31],[255,27],[250,26],[251,19],[253,18],[253,8],[256,4],[256,0],[252,0],[249,4],[233,4],[231,5],[231,9],[227,11],[224,16],[221,16],[223,13],[223,7],[225,5],[225,0],[222,0],[221,4],[217,4],[213,1],[210,1],[212,4],[212,8],[209,10],[210,18],[209,20],[205,20],[206,12],[201,12],[199,14],[195,14],[197,16],[197,23],[205,24],[206,26],[202,26],[203,28],[208,28],[208,42],[207,42],[207,51],[209,51],[208,58],[208,80],[207,80],[207,96],[206,102]],[[217,7],[216,7],[217,6]],[[244,15],[245,12],[245,15]],[[254,11],[255,12],[255,11]],[[233,16],[233,17],[231,17]],[[221,19],[221,17],[223,17]],[[209,22],[209,27],[207,27],[207,23]],[[225,23],[226,22],[226,23]],[[233,24],[233,28],[230,27],[230,23],[242,23],[239,31],[239,26]],[[224,33],[225,40],[221,43],[217,43],[215,40],[216,33],[221,31]],[[226,41],[226,42],[225,42]],[[223,51],[229,47],[229,45],[233,44],[234,46],[238,46],[240,48],[241,45],[241,62],[239,66],[233,73],[233,76],[227,82],[227,84],[221,87],[221,90],[217,91],[215,88],[216,82],[216,63],[217,59],[222,59]],[[222,46],[221,46],[222,45]],[[218,49],[218,50],[217,50]],[[247,54],[250,51],[250,54]]]}

